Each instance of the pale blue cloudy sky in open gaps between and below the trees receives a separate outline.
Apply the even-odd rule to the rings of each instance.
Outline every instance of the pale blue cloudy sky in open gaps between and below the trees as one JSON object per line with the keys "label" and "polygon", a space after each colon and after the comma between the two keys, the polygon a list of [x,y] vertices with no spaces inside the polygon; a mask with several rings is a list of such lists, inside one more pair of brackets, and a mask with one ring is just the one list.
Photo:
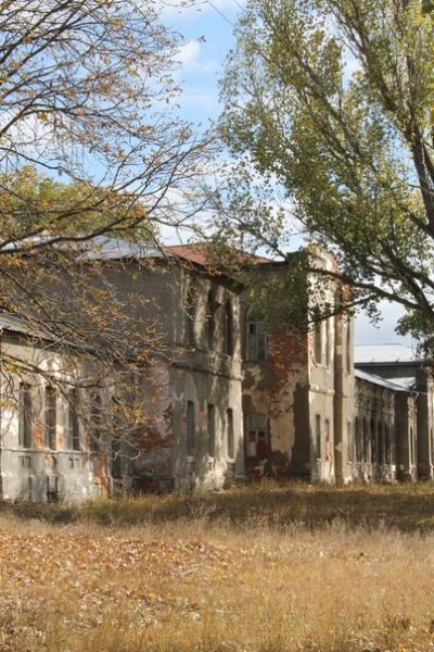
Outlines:
{"label": "pale blue cloudy sky in open gaps between and below the trees", "polygon": [[[196,0],[186,9],[166,7],[164,11],[164,22],[183,37],[176,72],[182,89],[178,100],[180,113],[201,129],[206,129],[219,115],[218,80],[234,43],[233,28],[243,4],[244,0]],[[356,343],[412,346],[411,338],[398,337],[394,331],[400,306],[382,302],[380,309],[383,321],[379,327],[372,326],[363,314],[357,317]]]}

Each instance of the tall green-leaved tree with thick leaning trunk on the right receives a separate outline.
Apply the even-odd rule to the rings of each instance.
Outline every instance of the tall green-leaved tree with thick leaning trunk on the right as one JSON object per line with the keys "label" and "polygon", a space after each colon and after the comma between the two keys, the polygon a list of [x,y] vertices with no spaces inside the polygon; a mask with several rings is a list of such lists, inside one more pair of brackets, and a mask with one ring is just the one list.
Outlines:
{"label": "tall green-leaved tree with thick leaning trunk on the right", "polygon": [[352,301],[400,303],[400,330],[433,354],[434,38],[420,2],[252,0],[222,92],[242,161],[225,228],[284,255],[285,211],[270,203],[283,189]]}

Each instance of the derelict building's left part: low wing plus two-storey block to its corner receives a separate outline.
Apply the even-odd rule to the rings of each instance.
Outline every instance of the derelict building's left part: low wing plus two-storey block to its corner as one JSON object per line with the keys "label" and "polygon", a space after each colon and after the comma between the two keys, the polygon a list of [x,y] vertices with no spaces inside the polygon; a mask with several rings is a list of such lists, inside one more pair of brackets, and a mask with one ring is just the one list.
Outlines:
{"label": "derelict building's left part: low wing plus two-storey block to its corner", "polygon": [[[31,373],[8,374],[3,366],[1,374],[3,498],[82,500],[124,489],[230,485],[244,473],[240,284],[200,264],[179,264],[168,252],[108,238],[92,249],[90,262],[95,260],[105,265],[103,283],[114,296],[137,298],[119,302],[125,317],[138,331],[152,323],[159,334],[158,354],[137,368],[136,401],[145,425],[133,438],[110,436],[95,405],[86,403],[98,403],[102,414],[116,400],[112,388],[99,391],[98,401],[79,389],[73,414],[67,388],[74,347],[66,361],[64,348],[43,346],[24,324],[4,316],[3,353],[8,349],[29,363]],[[92,274],[89,256],[85,264],[98,293],[101,276]],[[55,291],[74,296],[68,283],[58,279]],[[46,373],[53,366],[59,367],[55,391]],[[88,373],[79,365],[75,371],[78,378]],[[75,428],[74,437],[68,428]]]}

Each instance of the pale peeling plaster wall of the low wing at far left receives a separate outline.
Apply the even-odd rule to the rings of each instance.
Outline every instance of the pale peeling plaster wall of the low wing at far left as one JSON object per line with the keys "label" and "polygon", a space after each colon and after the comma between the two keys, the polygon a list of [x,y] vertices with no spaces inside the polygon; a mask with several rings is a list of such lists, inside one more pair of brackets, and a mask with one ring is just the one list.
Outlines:
{"label": "pale peeling plaster wall of the low wing at far left", "polygon": [[[16,334],[3,334],[4,354],[13,355],[41,369],[54,371],[60,380],[67,378],[69,368],[59,354],[44,351]],[[68,363],[69,364],[69,363]],[[21,378],[1,373],[1,497],[4,500],[60,499],[78,502],[98,496],[105,485],[94,473],[94,456],[89,452],[87,436],[80,430],[81,450],[67,448],[67,402],[56,397],[56,448],[44,446],[46,381],[37,373],[24,380],[31,386],[31,448],[18,441],[18,392]],[[106,477],[106,474],[104,474]]]}

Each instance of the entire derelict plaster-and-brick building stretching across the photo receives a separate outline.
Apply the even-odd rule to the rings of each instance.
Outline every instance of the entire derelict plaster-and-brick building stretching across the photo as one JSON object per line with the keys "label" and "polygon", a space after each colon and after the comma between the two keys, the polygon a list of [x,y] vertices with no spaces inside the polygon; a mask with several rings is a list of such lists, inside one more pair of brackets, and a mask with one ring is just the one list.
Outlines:
{"label": "entire derelict plaster-and-brick building stretching across the photo", "polygon": [[[263,475],[433,479],[433,383],[422,360],[363,360],[358,349],[355,363],[353,322],[339,312],[310,329],[280,324],[267,333],[248,292],[208,265],[203,246],[162,252],[111,238],[97,244],[86,260],[103,265],[112,292],[132,297],[124,316],[139,326],[152,317],[162,334],[159,355],[135,385],[146,426],[136,440],[105,432],[95,444],[95,409],[76,384],[89,369],[74,362],[74,348],[66,360],[3,315],[3,354],[28,363],[24,374],[4,364],[1,371],[4,499],[220,489]],[[333,268],[329,254],[317,258]],[[290,259],[256,259],[258,279],[279,278],[289,266]],[[98,288],[91,267],[87,273]],[[333,304],[334,285],[324,288]]]}

